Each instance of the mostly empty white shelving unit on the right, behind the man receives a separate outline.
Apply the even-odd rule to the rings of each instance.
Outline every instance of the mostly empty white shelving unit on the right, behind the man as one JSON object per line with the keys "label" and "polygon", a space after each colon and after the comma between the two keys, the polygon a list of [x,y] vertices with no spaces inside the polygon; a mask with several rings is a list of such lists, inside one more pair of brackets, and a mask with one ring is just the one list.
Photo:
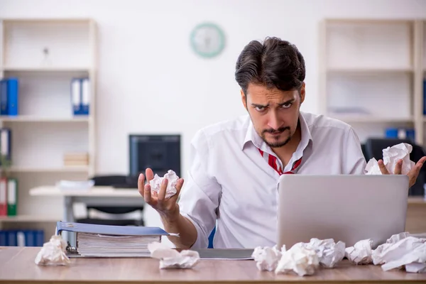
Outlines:
{"label": "mostly empty white shelving unit on the right, behind the man", "polygon": [[414,129],[423,145],[425,21],[326,19],[320,26],[320,111],[361,142]]}

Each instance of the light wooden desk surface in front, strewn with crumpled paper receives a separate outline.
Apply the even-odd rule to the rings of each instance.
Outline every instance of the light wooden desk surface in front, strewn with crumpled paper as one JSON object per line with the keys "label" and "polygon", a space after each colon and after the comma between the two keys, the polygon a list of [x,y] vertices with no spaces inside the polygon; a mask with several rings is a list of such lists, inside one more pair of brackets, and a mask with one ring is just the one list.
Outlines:
{"label": "light wooden desk surface in front, strewn with crumpled paper", "polygon": [[[71,258],[70,266],[37,266],[40,248],[0,247],[0,283],[425,283],[426,273],[382,271],[343,261],[315,275],[275,275],[258,271],[254,261],[202,260],[189,270],[160,270],[153,258]],[[78,283],[78,282],[73,282]]]}

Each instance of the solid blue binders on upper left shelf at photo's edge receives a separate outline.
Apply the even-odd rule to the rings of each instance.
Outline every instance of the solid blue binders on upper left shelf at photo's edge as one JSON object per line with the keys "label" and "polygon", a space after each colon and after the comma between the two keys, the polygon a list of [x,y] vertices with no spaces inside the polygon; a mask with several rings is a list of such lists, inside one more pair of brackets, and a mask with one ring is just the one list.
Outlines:
{"label": "solid blue binders on upper left shelf at photo's edge", "polygon": [[9,77],[0,80],[0,115],[18,115],[18,78]]}

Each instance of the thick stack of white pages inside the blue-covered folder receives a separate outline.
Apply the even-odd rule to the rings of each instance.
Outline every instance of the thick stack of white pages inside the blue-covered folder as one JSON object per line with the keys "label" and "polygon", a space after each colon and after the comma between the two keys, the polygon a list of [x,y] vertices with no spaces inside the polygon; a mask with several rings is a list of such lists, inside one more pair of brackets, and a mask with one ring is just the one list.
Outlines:
{"label": "thick stack of white pages inside the blue-covered folder", "polygon": [[148,244],[161,241],[160,236],[114,236],[77,234],[77,251],[80,256],[143,257],[150,256]]}

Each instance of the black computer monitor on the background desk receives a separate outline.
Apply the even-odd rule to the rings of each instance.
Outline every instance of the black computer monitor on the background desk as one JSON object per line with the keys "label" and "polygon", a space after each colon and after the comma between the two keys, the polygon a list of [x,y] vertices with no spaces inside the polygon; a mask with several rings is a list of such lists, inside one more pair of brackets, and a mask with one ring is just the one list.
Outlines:
{"label": "black computer monitor on the background desk", "polygon": [[129,135],[130,175],[151,168],[163,176],[168,170],[180,177],[180,135]]}

